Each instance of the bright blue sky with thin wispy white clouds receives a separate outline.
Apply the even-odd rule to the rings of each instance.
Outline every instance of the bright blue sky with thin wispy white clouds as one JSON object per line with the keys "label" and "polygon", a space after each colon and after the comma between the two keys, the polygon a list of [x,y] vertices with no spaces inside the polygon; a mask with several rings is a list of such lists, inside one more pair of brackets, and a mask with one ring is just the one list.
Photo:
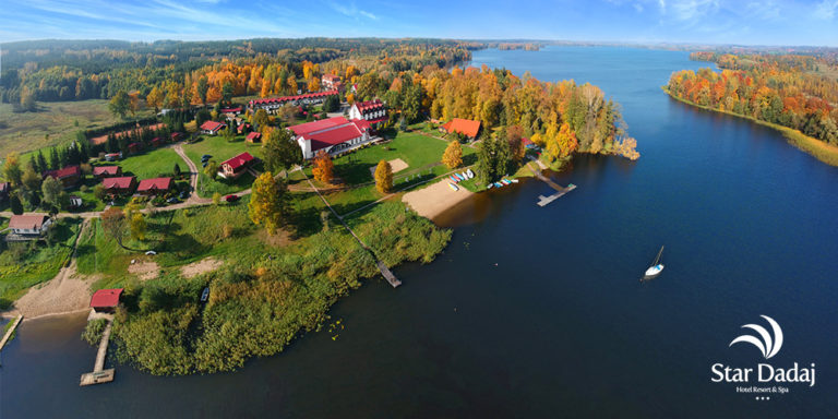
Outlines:
{"label": "bright blue sky with thin wispy white clouds", "polygon": [[3,0],[0,41],[431,37],[838,47],[838,0]]}

